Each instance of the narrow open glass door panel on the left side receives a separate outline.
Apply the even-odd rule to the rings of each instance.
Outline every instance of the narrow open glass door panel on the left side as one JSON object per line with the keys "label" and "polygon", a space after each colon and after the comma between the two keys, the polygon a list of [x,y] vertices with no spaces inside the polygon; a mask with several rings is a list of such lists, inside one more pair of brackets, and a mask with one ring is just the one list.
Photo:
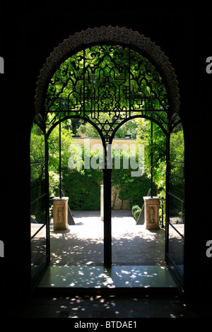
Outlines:
{"label": "narrow open glass door panel on the left side", "polygon": [[35,287],[49,261],[47,156],[45,131],[35,117],[30,136],[31,276]]}

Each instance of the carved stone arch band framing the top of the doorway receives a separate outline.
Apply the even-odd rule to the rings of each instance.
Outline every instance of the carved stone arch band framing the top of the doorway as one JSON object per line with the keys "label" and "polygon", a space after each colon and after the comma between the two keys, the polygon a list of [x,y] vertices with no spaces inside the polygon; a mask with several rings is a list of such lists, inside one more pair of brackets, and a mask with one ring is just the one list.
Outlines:
{"label": "carved stone arch band framing the top of the doorway", "polygon": [[100,28],[88,28],[87,30],[76,32],[61,42],[58,47],[54,48],[40,71],[40,76],[38,76],[35,95],[36,113],[44,114],[45,112],[45,95],[49,81],[59,64],[84,47],[103,43],[131,47],[151,61],[165,82],[170,103],[169,116],[171,117],[172,114],[179,112],[179,89],[175,70],[160,47],[137,31],[124,27],[101,26]]}

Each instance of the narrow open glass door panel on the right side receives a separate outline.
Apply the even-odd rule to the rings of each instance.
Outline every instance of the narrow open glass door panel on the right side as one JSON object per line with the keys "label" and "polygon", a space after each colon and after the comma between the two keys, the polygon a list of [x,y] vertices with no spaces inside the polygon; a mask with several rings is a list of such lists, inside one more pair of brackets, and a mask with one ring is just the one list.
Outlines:
{"label": "narrow open glass door panel on the right side", "polygon": [[179,117],[167,146],[166,261],[179,286],[184,285],[184,134]]}

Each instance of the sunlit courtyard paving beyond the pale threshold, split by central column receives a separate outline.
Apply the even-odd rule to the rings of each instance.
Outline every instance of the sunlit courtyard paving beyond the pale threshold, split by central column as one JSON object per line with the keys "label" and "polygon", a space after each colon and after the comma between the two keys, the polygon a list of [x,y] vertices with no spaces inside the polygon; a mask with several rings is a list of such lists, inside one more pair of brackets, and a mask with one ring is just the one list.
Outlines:
{"label": "sunlit courtyard paving beyond the pale threshold, split by central column", "polygon": [[[76,225],[50,230],[51,265],[100,266],[103,263],[103,221],[100,211],[72,211]],[[165,265],[165,230],[146,230],[129,210],[112,211],[112,264]]]}

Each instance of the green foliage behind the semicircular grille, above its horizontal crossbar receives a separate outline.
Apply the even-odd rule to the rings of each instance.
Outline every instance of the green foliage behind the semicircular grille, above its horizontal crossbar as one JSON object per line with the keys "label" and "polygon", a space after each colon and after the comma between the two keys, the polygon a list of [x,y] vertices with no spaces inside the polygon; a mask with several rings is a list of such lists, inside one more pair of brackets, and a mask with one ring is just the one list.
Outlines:
{"label": "green foliage behind the semicircular grille, above its horizontal crossbar", "polygon": [[50,112],[156,110],[167,107],[167,94],[147,59],[128,48],[101,45],[82,50],[59,66],[49,84],[46,107]]}

